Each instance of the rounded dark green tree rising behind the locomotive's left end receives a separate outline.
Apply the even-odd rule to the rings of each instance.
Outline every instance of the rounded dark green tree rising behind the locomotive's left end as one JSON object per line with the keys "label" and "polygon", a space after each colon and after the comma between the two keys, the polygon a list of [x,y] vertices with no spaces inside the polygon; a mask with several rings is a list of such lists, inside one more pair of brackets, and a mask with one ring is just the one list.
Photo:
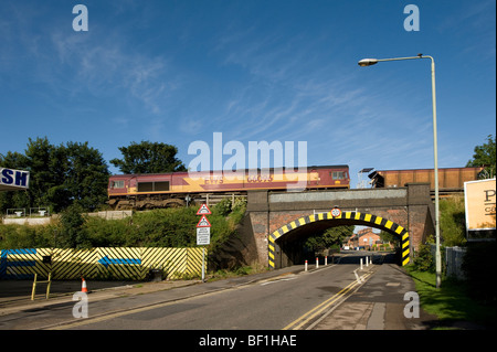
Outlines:
{"label": "rounded dark green tree rising behind the locomotive's left end", "polygon": [[165,173],[187,171],[181,160],[176,158],[178,148],[167,143],[141,141],[119,147],[123,159],[113,159],[110,163],[123,173]]}

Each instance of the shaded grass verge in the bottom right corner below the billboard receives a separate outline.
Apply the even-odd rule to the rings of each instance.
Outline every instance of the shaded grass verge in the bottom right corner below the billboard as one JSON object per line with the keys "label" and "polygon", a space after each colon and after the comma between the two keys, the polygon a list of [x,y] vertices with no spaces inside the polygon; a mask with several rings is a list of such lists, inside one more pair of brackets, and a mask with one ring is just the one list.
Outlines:
{"label": "shaded grass verge in the bottom right corner below the billboard", "polygon": [[[466,282],[445,279],[437,289],[434,273],[406,269],[414,279],[421,307],[438,317],[434,329],[495,329],[496,307],[472,298]],[[494,289],[493,282],[488,284],[488,289]]]}

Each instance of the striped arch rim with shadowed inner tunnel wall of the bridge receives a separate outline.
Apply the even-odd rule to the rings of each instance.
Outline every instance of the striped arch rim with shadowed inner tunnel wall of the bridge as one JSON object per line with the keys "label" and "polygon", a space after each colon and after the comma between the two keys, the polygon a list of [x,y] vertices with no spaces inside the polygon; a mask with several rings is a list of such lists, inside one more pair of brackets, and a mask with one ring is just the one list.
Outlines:
{"label": "striped arch rim with shadowed inner tunnel wall of the bridge", "polygon": [[393,234],[400,242],[399,264],[409,263],[409,233],[402,226],[376,215],[349,212],[340,217],[332,217],[329,213],[304,216],[275,231],[269,236],[269,267],[284,268],[304,264],[309,255],[314,257],[314,254],[305,250],[309,236],[324,233],[330,227],[349,225],[369,226]]}

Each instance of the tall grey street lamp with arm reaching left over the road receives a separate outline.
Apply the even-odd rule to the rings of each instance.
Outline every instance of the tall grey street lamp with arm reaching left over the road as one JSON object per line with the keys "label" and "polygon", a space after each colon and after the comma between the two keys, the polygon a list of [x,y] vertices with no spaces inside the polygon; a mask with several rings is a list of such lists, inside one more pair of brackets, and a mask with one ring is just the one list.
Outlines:
{"label": "tall grey street lamp with arm reaching left over the road", "polygon": [[393,58],[362,58],[358,62],[359,66],[372,66],[379,62],[384,61],[401,61],[413,58],[430,58],[432,61],[432,105],[433,105],[433,154],[435,160],[435,268],[436,268],[436,288],[440,288],[442,280],[442,260],[440,255],[440,206],[438,206],[438,151],[436,142],[436,94],[435,94],[435,61],[432,56],[417,54],[417,56],[410,57],[393,57]]}

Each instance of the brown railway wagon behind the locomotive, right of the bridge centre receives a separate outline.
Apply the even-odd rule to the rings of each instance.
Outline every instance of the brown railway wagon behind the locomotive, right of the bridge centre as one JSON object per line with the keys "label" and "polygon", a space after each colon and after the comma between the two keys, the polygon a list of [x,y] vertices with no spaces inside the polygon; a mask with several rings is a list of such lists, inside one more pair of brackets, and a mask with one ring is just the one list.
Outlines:
{"label": "brown railway wagon behind the locomotive, right of the bridge centre", "polygon": [[[464,182],[478,180],[484,168],[438,168],[438,189],[441,191],[462,191]],[[434,169],[377,170],[368,175],[373,188],[404,186],[411,182],[429,182],[435,189]]]}

